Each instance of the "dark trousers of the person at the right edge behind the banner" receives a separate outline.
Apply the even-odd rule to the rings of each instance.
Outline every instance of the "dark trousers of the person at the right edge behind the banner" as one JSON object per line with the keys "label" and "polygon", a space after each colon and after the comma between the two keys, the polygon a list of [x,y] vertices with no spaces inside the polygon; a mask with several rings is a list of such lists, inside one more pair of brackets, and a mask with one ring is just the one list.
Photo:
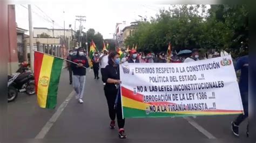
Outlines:
{"label": "dark trousers of the person at the right edge behind the banner", "polygon": [[[244,115],[239,115],[234,123],[235,125],[240,125],[242,121],[244,121],[248,117],[248,93],[241,93],[241,98],[242,98],[242,106],[244,107]],[[248,128],[248,125],[247,125]]]}

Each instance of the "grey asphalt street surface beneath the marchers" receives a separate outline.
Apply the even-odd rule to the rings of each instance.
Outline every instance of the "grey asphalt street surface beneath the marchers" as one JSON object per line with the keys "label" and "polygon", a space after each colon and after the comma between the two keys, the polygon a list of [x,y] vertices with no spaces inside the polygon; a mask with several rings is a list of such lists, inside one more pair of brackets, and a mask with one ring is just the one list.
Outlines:
{"label": "grey asphalt street surface beneath the marchers", "polygon": [[63,142],[191,142],[217,138],[223,142],[247,142],[246,123],[241,124],[239,140],[231,133],[230,125],[235,116],[126,119],[127,139],[120,141],[117,129],[109,128],[103,84],[101,80],[93,79],[92,70],[87,70],[85,86],[84,103],[79,104],[75,96],[70,95],[73,88],[69,85],[68,71],[63,69],[55,110],[39,108],[35,95],[19,94],[15,102],[8,104],[9,138],[35,138],[70,95],[71,100],[44,139]]}

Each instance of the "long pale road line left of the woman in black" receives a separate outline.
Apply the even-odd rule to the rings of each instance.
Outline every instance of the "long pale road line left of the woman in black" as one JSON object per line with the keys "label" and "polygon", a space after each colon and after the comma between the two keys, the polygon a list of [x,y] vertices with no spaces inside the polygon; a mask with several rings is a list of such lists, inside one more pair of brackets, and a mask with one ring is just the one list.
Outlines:
{"label": "long pale road line left of the woman in black", "polygon": [[58,110],[52,115],[49,121],[44,125],[42,130],[35,137],[35,139],[43,139],[45,137],[45,135],[50,131],[52,125],[55,123],[55,121],[58,119],[62,111],[65,109],[66,105],[68,105],[73,95],[75,95],[74,90],[69,94],[69,96],[65,99],[65,101],[59,106]]}

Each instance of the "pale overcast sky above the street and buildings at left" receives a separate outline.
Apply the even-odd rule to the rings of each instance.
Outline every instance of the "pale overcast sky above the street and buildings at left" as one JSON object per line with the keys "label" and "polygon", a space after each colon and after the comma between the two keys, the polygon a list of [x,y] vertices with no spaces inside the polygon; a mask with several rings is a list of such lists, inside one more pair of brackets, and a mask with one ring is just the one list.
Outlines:
{"label": "pale overcast sky above the street and buildings at left", "polygon": [[[65,3],[65,2],[64,2]],[[27,4],[22,4],[28,8]],[[28,9],[20,4],[16,4],[16,22],[18,27],[29,30]],[[41,9],[41,10],[39,10]],[[79,4],[32,4],[32,25],[33,27],[47,27],[52,28],[50,18],[55,20],[55,28],[68,28],[72,24],[75,28],[75,16],[86,16],[86,22],[83,23],[87,31],[88,28],[94,28],[96,32],[103,34],[103,38],[113,38],[116,23],[126,21],[130,24],[135,20],[142,20],[138,17],[155,17],[159,9],[169,8],[170,5],[157,4],[131,4],[131,3],[116,3],[116,2],[99,2],[99,1],[84,1]],[[65,11],[65,14],[63,13]],[[47,20],[48,19],[48,20]],[[76,22],[76,29],[78,30],[79,22]],[[29,33],[29,32],[28,32]]]}

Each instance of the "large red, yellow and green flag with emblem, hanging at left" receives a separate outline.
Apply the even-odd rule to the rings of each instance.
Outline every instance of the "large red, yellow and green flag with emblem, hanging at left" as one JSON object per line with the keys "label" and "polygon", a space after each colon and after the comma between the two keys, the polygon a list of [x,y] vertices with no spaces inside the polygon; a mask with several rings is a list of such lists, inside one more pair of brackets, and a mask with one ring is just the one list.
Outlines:
{"label": "large red, yellow and green flag with emblem, hanging at left", "polygon": [[35,51],[35,84],[37,102],[41,108],[54,109],[63,59]]}

